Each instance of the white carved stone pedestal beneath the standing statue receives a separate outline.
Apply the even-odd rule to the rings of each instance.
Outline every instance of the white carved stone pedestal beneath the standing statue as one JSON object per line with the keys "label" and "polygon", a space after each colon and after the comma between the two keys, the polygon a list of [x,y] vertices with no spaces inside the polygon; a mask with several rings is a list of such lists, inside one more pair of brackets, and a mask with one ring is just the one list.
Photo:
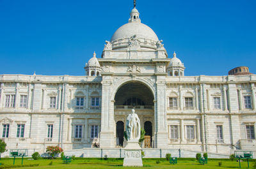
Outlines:
{"label": "white carved stone pedestal beneath the standing statue", "polygon": [[123,166],[143,166],[141,158],[141,147],[138,141],[128,141],[124,148]]}

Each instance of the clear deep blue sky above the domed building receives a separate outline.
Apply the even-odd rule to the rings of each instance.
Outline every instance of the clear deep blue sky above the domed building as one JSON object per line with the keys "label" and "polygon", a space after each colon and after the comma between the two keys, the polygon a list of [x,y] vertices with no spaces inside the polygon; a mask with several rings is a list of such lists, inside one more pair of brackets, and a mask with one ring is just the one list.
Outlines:
{"label": "clear deep blue sky above the domed building", "polygon": [[[132,0],[0,0],[0,74],[84,75],[128,22]],[[184,62],[185,75],[256,73],[255,0],[137,0],[141,22]]]}

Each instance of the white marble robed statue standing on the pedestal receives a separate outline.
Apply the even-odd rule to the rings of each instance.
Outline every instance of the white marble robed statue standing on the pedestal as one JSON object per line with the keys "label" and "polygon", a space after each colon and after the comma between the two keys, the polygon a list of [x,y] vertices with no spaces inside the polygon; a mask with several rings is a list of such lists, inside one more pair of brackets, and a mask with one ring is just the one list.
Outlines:
{"label": "white marble robed statue standing on the pedestal", "polygon": [[132,114],[129,114],[126,120],[125,130],[128,141],[140,140],[140,119],[132,108]]}

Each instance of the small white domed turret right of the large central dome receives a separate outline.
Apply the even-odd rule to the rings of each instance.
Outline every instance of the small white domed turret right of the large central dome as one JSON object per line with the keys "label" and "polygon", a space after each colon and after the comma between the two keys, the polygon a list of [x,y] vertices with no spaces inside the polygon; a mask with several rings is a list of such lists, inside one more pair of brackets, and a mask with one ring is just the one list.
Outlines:
{"label": "small white domed turret right of the large central dome", "polygon": [[170,64],[167,67],[167,72],[169,76],[184,76],[184,64],[176,57],[176,53],[173,52],[173,58],[170,60]]}

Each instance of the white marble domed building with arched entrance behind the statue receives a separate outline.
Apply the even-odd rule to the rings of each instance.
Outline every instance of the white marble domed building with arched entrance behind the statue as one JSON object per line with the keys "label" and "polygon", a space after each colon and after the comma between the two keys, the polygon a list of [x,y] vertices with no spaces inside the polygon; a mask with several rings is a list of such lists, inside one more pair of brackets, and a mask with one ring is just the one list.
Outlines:
{"label": "white marble domed building with arched entrance behind the statue", "polygon": [[154,149],[255,151],[256,75],[184,75],[132,9],[85,76],[0,75],[0,134],[8,149],[115,149],[135,108]]}

